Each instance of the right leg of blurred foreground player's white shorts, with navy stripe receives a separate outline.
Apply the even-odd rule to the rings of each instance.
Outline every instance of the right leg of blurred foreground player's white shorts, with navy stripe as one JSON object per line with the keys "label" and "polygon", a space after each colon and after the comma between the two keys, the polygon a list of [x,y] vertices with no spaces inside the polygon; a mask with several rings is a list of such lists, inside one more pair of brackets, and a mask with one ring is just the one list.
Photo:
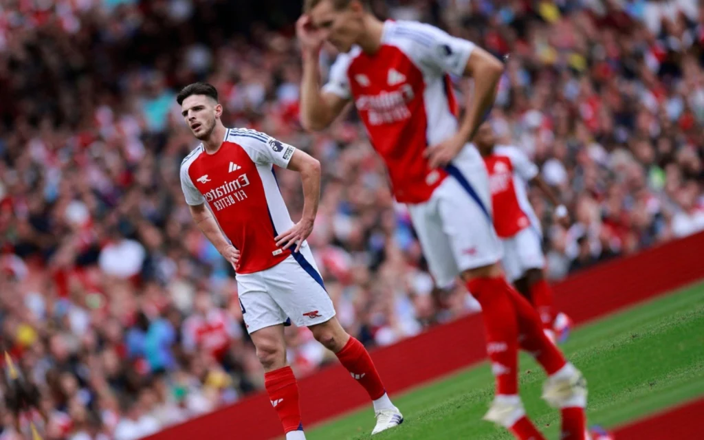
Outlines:
{"label": "right leg of blurred foreground player's white shorts, with navy stripe", "polygon": [[439,188],[443,230],[460,271],[493,265],[503,254],[491,220],[488,187],[483,183],[458,174],[448,177]]}

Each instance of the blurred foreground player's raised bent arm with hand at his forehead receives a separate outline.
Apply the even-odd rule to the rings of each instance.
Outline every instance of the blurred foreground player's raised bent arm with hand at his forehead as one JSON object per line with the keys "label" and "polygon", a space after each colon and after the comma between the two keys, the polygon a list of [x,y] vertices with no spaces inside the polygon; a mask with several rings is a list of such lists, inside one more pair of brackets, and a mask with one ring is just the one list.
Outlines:
{"label": "blurred foreground player's raised bent arm with hand at his forehead", "polygon": [[322,89],[320,48],[325,41],[324,30],[315,29],[310,21],[310,15],[305,14],[296,23],[296,34],[301,42],[303,55],[301,124],[306,130],[323,130],[342,113],[351,99],[346,76],[344,72],[339,72],[340,65],[334,66],[330,73],[329,84]]}

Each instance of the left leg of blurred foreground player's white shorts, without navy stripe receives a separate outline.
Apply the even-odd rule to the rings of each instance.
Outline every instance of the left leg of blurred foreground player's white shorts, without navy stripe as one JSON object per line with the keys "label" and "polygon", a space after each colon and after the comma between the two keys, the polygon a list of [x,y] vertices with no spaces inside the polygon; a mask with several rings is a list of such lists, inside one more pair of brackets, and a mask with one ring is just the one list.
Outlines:
{"label": "left leg of blurred foreground player's white shorts, without navy stripe", "polygon": [[443,230],[436,201],[408,205],[408,211],[435,283],[439,287],[450,286],[459,274],[459,270],[449,237]]}

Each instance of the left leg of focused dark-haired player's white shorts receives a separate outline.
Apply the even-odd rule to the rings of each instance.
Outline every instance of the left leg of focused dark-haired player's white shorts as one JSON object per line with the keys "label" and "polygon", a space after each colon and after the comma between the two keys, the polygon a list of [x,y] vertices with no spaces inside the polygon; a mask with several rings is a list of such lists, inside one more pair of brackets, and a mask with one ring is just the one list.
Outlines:
{"label": "left leg of focused dark-haired player's white shorts", "polygon": [[237,275],[237,296],[249,334],[287,322],[287,315],[270,295],[262,272]]}

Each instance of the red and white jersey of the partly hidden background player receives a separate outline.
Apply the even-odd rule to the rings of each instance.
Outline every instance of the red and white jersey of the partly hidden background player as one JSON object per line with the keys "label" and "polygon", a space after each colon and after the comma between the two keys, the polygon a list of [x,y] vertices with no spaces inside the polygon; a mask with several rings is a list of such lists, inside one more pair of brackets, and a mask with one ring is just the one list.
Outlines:
{"label": "red and white jersey of the partly hidden background player", "polygon": [[538,167],[515,146],[496,146],[484,163],[489,172],[494,229],[501,238],[513,237],[535,218],[526,186],[538,175]]}

